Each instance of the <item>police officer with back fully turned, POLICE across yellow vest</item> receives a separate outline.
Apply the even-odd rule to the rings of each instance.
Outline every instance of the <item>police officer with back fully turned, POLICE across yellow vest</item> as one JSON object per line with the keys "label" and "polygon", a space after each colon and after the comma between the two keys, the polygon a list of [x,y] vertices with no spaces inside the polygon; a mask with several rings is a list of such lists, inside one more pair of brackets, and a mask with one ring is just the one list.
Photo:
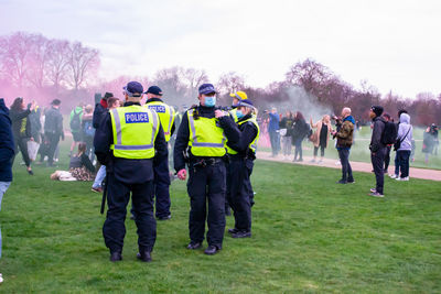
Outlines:
{"label": "police officer with back fully turned, POLICE across yellow vest", "polygon": [[138,258],[151,261],[157,239],[153,217],[153,157],[166,156],[164,133],[154,111],[141,107],[142,85],[123,87],[126,102],[103,118],[95,133],[95,153],[107,166],[108,211],[103,227],[110,261],[122,260],[126,207],[130,193],[137,215]]}

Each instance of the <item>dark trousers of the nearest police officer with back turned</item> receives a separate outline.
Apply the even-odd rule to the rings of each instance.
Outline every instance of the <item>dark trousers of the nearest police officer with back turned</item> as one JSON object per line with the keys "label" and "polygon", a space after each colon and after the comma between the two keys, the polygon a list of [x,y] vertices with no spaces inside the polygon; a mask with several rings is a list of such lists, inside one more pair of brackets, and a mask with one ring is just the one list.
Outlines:
{"label": "dark trousers of the nearest police officer with back turned", "polygon": [[141,184],[126,184],[114,174],[107,179],[108,210],[103,226],[103,236],[110,252],[122,252],[126,236],[127,204],[130,199],[136,213],[138,247],[140,251],[152,251],[157,240],[157,220],[153,216],[153,181]]}

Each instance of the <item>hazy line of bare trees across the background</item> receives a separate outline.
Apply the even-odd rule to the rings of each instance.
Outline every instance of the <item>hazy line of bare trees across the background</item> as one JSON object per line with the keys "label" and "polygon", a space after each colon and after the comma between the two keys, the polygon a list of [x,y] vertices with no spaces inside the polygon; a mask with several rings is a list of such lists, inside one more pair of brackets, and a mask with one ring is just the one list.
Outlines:
{"label": "hazy line of bare trees across the background", "polygon": [[26,32],[0,36],[0,95],[11,96],[7,97],[9,99],[28,96],[43,102],[57,97],[69,108],[79,101],[93,102],[95,92],[112,91],[118,97],[121,85],[137,79],[144,86],[160,86],[170,104],[190,106],[195,102],[198,86],[212,81],[225,105],[230,104],[229,92],[245,90],[260,109],[277,106],[284,111],[309,106],[308,112],[313,106],[321,112],[338,113],[348,106],[353,115],[364,121],[372,105],[381,105],[392,116],[399,109],[407,109],[416,124],[441,124],[441,94],[420,92],[407,98],[391,91],[381,95],[367,81],[355,88],[311,58],[292,65],[284,80],[272,81],[265,88],[248,85],[246,78],[235,72],[225,73],[213,81],[203,69],[180,66],[160,69],[152,77],[120,76],[100,80],[97,77],[99,66],[99,51],[80,42]]}

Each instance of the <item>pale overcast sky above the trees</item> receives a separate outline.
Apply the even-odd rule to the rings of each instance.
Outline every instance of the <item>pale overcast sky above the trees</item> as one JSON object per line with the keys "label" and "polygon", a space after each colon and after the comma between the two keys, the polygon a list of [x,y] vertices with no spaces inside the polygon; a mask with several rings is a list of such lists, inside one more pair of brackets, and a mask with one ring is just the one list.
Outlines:
{"label": "pale overcast sky above the trees", "polygon": [[265,87],[311,57],[355,87],[415,97],[441,94],[440,17],[439,0],[0,0],[0,34],[80,41],[106,78],[179,65]]}

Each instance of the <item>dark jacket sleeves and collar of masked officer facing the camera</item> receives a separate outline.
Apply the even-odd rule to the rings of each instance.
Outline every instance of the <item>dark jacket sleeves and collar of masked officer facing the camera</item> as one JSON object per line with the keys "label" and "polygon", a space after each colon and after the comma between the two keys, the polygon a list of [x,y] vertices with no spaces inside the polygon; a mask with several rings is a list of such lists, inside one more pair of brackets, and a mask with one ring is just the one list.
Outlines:
{"label": "dark jacket sleeves and collar of masked officer facing the camera", "polygon": [[[193,109],[193,108],[192,108]],[[203,118],[215,118],[215,107],[204,107],[197,106],[194,107],[195,111],[197,111],[200,117]],[[219,120],[220,128],[224,129],[224,133],[230,143],[237,142],[240,139],[240,132],[237,128],[236,123],[232,119],[230,116],[224,116]],[[189,146],[190,141],[190,130],[189,130],[189,115],[185,111],[184,116],[182,117],[181,126],[178,130],[176,141],[174,143],[174,152],[173,152],[173,160],[174,160],[174,170],[176,172],[185,168],[185,157],[184,152]],[[191,153],[191,149],[189,148],[189,155],[194,156]]]}

